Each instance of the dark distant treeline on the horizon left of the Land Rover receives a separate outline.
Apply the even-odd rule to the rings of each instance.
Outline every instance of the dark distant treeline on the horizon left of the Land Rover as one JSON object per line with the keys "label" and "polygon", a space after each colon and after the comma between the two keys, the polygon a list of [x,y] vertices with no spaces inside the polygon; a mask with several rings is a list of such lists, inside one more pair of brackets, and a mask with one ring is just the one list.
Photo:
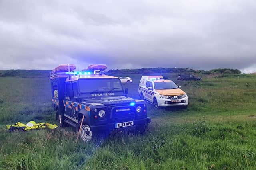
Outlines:
{"label": "dark distant treeline on the horizon left of the Land Rover", "polygon": [[49,77],[50,70],[0,70],[0,77]]}

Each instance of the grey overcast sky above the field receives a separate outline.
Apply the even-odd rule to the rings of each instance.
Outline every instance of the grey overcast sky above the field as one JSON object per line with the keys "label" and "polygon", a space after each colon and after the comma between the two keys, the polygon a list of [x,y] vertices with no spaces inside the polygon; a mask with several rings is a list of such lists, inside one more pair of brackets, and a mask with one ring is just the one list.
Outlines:
{"label": "grey overcast sky above the field", "polygon": [[256,72],[256,0],[0,0],[0,70]]}

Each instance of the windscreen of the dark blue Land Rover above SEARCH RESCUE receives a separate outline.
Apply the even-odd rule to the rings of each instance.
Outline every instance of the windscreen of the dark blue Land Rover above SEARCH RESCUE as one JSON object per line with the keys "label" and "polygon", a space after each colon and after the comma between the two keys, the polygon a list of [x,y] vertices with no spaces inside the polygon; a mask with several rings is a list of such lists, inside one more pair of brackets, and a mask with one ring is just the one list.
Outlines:
{"label": "windscreen of the dark blue Land Rover above SEARCH RESCUE", "polygon": [[80,79],[78,86],[81,93],[123,91],[119,79]]}

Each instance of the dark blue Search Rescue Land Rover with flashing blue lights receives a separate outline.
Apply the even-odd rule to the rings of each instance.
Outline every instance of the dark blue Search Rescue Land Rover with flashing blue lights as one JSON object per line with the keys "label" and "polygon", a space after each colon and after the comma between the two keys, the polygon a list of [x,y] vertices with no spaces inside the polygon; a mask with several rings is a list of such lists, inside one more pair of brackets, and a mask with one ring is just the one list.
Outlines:
{"label": "dark blue Search Rescue Land Rover with flashing blue lights", "polygon": [[52,106],[60,127],[80,129],[84,141],[114,129],[144,132],[150,123],[146,102],[128,97],[128,89],[123,89],[118,77],[104,74],[106,65],[75,69],[74,64],[61,64],[50,76]]}

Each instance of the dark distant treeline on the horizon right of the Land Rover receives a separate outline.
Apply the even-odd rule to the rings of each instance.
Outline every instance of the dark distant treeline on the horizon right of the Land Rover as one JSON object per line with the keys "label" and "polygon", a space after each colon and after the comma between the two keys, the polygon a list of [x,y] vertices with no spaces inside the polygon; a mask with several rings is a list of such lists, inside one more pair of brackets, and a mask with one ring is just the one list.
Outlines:
{"label": "dark distant treeline on the horizon right of the Land Rover", "polygon": [[154,73],[199,73],[199,74],[241,74],[240,70],[230,68],[219,68],[210,71],[193,70],[191,68],[139,68],[139,69],[117,69],[108,70],[110,74],[154,74]]}

